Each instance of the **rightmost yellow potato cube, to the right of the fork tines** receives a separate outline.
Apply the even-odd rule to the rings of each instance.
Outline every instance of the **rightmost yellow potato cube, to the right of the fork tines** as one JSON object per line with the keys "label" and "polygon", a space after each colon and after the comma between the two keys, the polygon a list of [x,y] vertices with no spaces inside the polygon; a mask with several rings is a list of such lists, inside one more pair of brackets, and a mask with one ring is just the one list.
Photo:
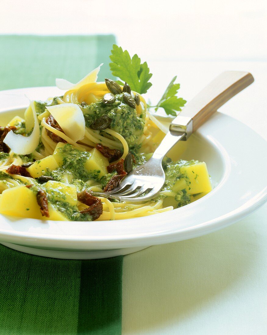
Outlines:
{"label": "rightmost yellow potato cube, to the right of the fork tines", "polygon": [[182,166],[180,172],[188,178],[186,180],[188,185],[185,188],[188,194],[210,192],[212,190],[205,162]]}

